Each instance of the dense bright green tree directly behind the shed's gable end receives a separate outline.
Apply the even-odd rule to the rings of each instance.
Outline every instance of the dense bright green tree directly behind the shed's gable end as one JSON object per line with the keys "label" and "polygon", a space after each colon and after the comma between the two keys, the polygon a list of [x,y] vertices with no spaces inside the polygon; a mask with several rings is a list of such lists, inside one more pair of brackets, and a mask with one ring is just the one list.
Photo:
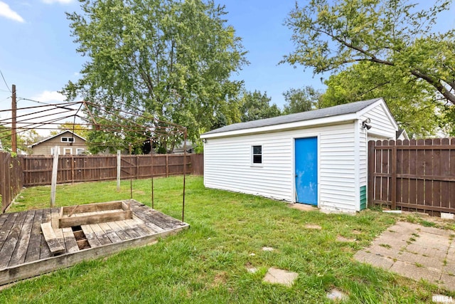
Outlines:
{"label": "dense bright green tree directly behind the shed's gable end", "polygon": [[428,137],[439,130],[444,105],[431,85],[397,75],[388,65],[360,62],[331,75],[321,96],[323,108],[372,98],[384,98],[400,128],[410,136]]}

